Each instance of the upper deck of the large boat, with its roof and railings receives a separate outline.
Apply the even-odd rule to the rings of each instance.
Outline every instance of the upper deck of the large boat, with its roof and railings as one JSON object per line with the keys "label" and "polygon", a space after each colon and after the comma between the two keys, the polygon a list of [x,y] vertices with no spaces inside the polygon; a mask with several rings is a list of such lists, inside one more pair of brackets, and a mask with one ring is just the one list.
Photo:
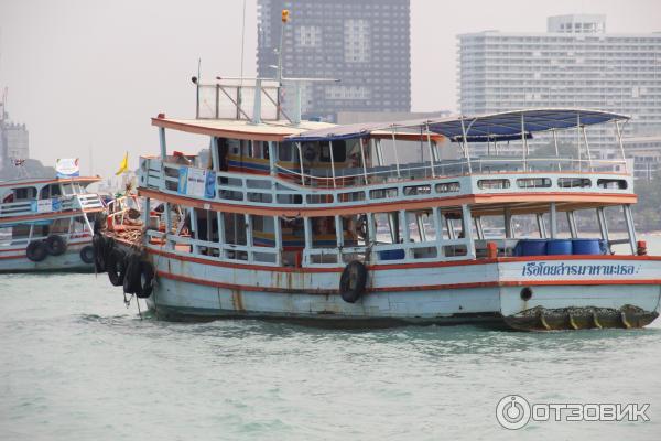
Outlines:
{"label": "upper deck of the large boat, with its roof and railings", "polygon": [[[624,152],[621,159],[593,159],[586,130],[614,122],[619,135],[626,120],[583,109],[349,126],[156,118],[164,154],[141,158],[139,187],[144,195],[201,208],[288,216],[388,206],[470,204],[475,213],[488,214],[503,207],[534,213],[549,202],[560,211],[630,204],[636,195]],[[165,128],[209,136],[207,163],[167,155]],[[571,129],[579,135],[576,154],[561,154],[555,131]],[[555,141],[544,155],[529,149],[539,132]],[[513,141],[521,151],[503,154],[502,146]],[[448,157],[453,149],[458,153]]]}

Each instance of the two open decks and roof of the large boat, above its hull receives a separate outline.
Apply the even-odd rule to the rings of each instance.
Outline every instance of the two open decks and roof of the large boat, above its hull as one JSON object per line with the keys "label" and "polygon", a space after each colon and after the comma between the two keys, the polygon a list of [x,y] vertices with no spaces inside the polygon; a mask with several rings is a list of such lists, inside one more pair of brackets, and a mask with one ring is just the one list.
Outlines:
{"label": "two open decks and roof of the large boat, above its hull", "polygon": [[[609,254],[622,244],[637,252],[636,195],[621,146],[626,116],[531,109],[335,126],[277,119],[274,108],[266,118],[256,98],[252,111],[231,99],[238,117],[216,118],[227,107],[221,97],[245,87],[263,95],[259,82],[198,84],[198,117],[206,107],[212,116],[152,119],[161,155],[141,158],[139,192],[145,216],[151,198],[163,205],[145,219],[150,246],[303,268]],[[589,129],[606,123],[619,158],[599,160]],[[205,137],[203,151],[169,150],[166,130]],[[576,142],[570,154],[566,139]],[[615,209],[625,238],[609,235]],[[598,225],[598,237],[582,235],[582,223]]]}

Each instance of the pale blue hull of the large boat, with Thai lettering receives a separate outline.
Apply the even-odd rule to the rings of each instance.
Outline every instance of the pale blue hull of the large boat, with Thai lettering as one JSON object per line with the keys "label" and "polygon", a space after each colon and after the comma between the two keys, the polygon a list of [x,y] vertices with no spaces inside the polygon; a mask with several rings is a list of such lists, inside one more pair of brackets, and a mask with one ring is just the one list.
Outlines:
{"label": "pale blue hull of the large boat, with Thai lettering", "polygon": [[[336,269],[256,269],[165,252],[150,258],[158,282],[148,305],[165,320],[254,318],[353,327],[489,323],[534,331],[640,327],[658,316],[661,298],[661,281],[654,279],[661,260],[653,259],[585,257],[573,263],[578,275],[563,268],[553,276],[531,271],[524,259],[375,266],[367,292],[347,303],[338,292]],[[535,265],[564,265],[560,261]]]}

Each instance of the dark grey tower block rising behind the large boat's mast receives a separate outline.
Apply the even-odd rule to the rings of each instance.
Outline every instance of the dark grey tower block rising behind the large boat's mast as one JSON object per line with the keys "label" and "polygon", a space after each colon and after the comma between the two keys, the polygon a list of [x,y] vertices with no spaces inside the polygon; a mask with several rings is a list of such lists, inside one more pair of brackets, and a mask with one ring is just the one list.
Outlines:
{"label": "dark grey tower block rising behind the large boat's mast", "polygon": [[[409,0],[258,0],[257,68],[274,77],[284,28],[284,77],[336,78],[305,83],[302,115],[335,121],[338,111],[411,110]],[[285,109],[295,93],[286,87]]]}

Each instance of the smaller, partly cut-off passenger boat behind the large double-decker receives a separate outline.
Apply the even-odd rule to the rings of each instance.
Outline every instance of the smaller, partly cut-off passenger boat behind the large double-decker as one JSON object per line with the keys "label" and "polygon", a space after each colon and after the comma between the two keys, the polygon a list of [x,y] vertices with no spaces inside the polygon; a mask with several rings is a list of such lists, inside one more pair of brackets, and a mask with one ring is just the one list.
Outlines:
{"label": "smaller, partly cut-off passenger boat behind the large double-decker", "polygon": [[94,270],[90,218],[99,178],[23,178],[0,182],[0,272]]}

